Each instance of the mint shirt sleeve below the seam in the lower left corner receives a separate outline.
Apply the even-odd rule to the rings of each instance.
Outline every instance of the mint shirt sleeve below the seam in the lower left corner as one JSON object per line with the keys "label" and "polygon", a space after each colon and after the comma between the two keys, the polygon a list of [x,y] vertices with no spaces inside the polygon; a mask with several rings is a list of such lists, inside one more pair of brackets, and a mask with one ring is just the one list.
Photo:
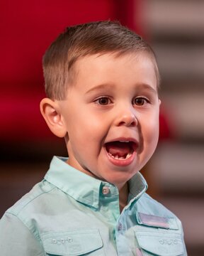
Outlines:
{"label": "mint shirt sleeve below the seam in the lower left corner", "polygon": [[0,220],[0,252],[4,256],[45,256],[40,242],[10,213],[5,213]]}

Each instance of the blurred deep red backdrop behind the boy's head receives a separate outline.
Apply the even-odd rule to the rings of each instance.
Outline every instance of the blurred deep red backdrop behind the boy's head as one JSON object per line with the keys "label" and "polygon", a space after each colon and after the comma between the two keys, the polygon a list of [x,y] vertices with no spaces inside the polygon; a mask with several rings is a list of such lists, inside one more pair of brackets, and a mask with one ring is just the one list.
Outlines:
{"label": "blurred deep red backdrop behind the boy's head", "polygon": [[[65,27],[118,19],[143,34],[142,0],[2,1],[0,15],[0,139],[33,142],[54,139],[40,115],[44,97],[42,55]],[[169,134],[162,117],[162,137]]]}

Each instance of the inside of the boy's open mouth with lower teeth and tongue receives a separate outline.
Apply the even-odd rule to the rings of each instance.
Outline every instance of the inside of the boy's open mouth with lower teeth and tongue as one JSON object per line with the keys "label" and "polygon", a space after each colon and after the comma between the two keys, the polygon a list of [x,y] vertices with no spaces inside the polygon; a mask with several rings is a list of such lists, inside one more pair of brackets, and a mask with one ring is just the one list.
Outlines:
{"label": "inside of the boy's open mouth with lower teeth and tongue", "polygon": [[129,159],[136,149],[135,142],[116,141],[106,143],[106,151],[113,159]]}

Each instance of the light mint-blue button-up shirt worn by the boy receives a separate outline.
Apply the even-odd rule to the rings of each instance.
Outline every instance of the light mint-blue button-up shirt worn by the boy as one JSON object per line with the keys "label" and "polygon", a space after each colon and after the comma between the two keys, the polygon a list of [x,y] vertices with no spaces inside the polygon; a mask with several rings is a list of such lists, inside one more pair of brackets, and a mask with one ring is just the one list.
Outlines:
{"label": "light mint-blue button-up shirt worn by the boy", "polygon": [[140,173],[120,214],[118,188],[66,160],[55,156],[44,180],[1,218],[2,256],[187,255],[180,220],[145,193]]}

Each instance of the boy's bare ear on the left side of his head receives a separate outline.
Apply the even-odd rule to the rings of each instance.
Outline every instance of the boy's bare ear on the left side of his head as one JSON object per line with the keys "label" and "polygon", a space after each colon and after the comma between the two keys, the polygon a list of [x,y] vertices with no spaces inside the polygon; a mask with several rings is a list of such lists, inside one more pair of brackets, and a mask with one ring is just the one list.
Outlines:
{"label": "boy's bare ear on the left side of his head", "polygon": [[57,102],[50,100],[49,98],[41,100],[40,112],[51,132],[57,137],[65,137],[67,129],[64,125],[60,107]]}

